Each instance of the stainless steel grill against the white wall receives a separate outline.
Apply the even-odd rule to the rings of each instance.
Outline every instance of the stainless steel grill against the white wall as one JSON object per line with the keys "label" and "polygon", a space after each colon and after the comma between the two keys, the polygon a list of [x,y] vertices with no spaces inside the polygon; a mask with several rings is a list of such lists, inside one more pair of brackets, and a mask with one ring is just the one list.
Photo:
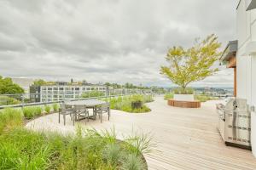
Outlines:
{"label": "stainless steel grill against the white wall", "polygon": [[251,114],[247,100],[230,98],[217,105],[218,130],[227,145],[250,148]]}

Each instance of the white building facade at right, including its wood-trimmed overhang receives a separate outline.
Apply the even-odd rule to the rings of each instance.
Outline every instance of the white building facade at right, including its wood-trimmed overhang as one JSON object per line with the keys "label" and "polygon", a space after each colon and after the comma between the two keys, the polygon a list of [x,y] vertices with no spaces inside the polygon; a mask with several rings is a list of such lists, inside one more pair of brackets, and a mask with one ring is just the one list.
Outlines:
{"label": "white building facade at right, including its wood-trimmed overhang", "polygon": [[236,68],[236,96],[247,99],[251,111],[251,144],[253,155],[256,156],[256,0],[239,2],[236,8],[236,31],[235,53],[226,48],[222,59],[228,62],[228,67],[231,64],[231,68]]}

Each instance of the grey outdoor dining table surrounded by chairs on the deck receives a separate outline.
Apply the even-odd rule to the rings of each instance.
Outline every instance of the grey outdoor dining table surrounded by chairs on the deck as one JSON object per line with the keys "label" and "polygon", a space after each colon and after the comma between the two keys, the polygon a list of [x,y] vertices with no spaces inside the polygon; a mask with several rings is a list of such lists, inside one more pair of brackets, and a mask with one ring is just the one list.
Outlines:
{"label": "grey outdoor dining table surrounded by chairs on the deck", "polygon": [[65,105],[70,105],[75,107],[76,105],[85,105],[86,108],[93,109],[93,118],[96,119],[96,106],[106,104],[106,101],[98,100],[98,99],[83,99],[76,101],[66,101]]}

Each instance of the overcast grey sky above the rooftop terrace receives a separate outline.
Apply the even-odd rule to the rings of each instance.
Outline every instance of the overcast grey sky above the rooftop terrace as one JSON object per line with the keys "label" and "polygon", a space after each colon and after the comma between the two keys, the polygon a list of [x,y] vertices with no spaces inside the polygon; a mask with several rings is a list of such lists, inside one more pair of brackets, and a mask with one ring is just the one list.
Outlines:
{"label": "overcast grey sky above the rooftop terrace", "polygon": [[[172,86],[168,48],[236,39],[237,0],[1,0],[0,75]],[[232,69],[194,86],[231,86]]]}

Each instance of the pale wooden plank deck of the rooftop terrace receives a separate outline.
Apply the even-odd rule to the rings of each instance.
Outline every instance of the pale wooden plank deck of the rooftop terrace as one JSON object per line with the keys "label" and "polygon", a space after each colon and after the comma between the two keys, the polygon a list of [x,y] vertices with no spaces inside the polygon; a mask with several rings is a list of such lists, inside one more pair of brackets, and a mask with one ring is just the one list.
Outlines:
{"label": "pale wooden plank deck of the rooftop terrace", "polygon": [[[156,146],[146,154],[148,169],[256,169],[256,158],[251,151],[224,145],[218,129],[215,101],[202,103],[200,109],[175,108],[166,104],[162,96],[147,104],[149,113],[131,114],[111,110],[103,115],[103,123],[86,120],[77,122],[82,127],[115,128],[119,139],[132,132],[151,133]],[[61,120],[62,121],[62,120]],[[58,123],[58,114],[42,116],[28,122],[34,130],[74,133],[73,122]]]}

